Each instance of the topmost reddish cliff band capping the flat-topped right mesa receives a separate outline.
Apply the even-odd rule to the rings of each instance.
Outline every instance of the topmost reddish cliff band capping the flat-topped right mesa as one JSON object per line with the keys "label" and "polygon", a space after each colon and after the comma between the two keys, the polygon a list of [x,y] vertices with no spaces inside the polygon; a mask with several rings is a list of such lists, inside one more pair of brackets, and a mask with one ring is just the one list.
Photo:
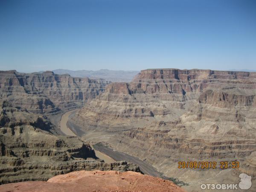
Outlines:
{"label": "topmost reddish cliff band capping the flat-topped right mesa", "polygon": [[134,80],[142,79],[177,79],[189,81],[192,79],[255,79],[256,72],[216,71],[216,70],[180,70],[180,69],[147,69],[142,70]]}

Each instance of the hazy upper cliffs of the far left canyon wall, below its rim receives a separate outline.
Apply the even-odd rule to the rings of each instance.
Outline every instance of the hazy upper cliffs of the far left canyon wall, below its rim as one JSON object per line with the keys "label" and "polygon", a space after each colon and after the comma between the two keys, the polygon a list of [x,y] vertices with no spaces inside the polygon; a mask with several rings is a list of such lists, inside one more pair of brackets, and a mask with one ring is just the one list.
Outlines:
{"label": "hazy upper cliffs of the far left canyon wall, below its rim", "polygon": [[102,92],[108,82],[69,75],[0,71],[0,105],[34,113],[75,108]]}

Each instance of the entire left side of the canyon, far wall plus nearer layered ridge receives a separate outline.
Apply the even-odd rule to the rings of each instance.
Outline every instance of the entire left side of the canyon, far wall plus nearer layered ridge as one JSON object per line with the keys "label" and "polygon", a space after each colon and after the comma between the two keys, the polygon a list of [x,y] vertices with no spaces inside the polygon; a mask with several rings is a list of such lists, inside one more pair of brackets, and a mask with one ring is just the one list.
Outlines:
{"label": "entire left side of the canyon, far wall plus nearer layered ridge", "polygon": [[58,125],[63,113],[81,107],[107,83],[50,71],[0,71],[0,184],[80,170],[140,172],[132,163],[98,159],[87,141],[66,136]]}

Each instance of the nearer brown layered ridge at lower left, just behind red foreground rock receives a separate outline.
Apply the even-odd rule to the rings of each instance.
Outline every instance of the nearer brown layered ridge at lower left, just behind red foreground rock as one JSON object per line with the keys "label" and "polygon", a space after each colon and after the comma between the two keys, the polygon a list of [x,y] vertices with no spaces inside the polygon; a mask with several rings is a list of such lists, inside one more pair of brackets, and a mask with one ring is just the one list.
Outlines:
{"label": "nearer brown layered ridge at lower left, just behind red foreground rock", "polygon": [[31,125],[0,128],[0,184],[50,177],[80,170],[140,172],[127,162],[95,160],[90,145],[78,137],[55,136]]}

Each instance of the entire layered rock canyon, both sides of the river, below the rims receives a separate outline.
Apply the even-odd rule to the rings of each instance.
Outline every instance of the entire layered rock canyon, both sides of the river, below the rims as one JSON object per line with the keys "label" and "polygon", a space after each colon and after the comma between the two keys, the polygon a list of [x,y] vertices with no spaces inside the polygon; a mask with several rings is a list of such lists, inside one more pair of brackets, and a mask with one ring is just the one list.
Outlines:
{"label": "entire layered rock canyon, both sides of the river, below the rims", "polygon": [[[0,71],[0,105],[2,184],[80,170],[141,172],[128,163],[134,157],[187,191],[209,181],[238,183],[240,173],[252,176],[249,191],[256,190],[254,72],[148,69],[111,83]],[[105,163],[93,145],[129,158]],[[217,168],[178,169],[179,161],[216,161]],[[220,169],[221,161],[240,166]]]}

